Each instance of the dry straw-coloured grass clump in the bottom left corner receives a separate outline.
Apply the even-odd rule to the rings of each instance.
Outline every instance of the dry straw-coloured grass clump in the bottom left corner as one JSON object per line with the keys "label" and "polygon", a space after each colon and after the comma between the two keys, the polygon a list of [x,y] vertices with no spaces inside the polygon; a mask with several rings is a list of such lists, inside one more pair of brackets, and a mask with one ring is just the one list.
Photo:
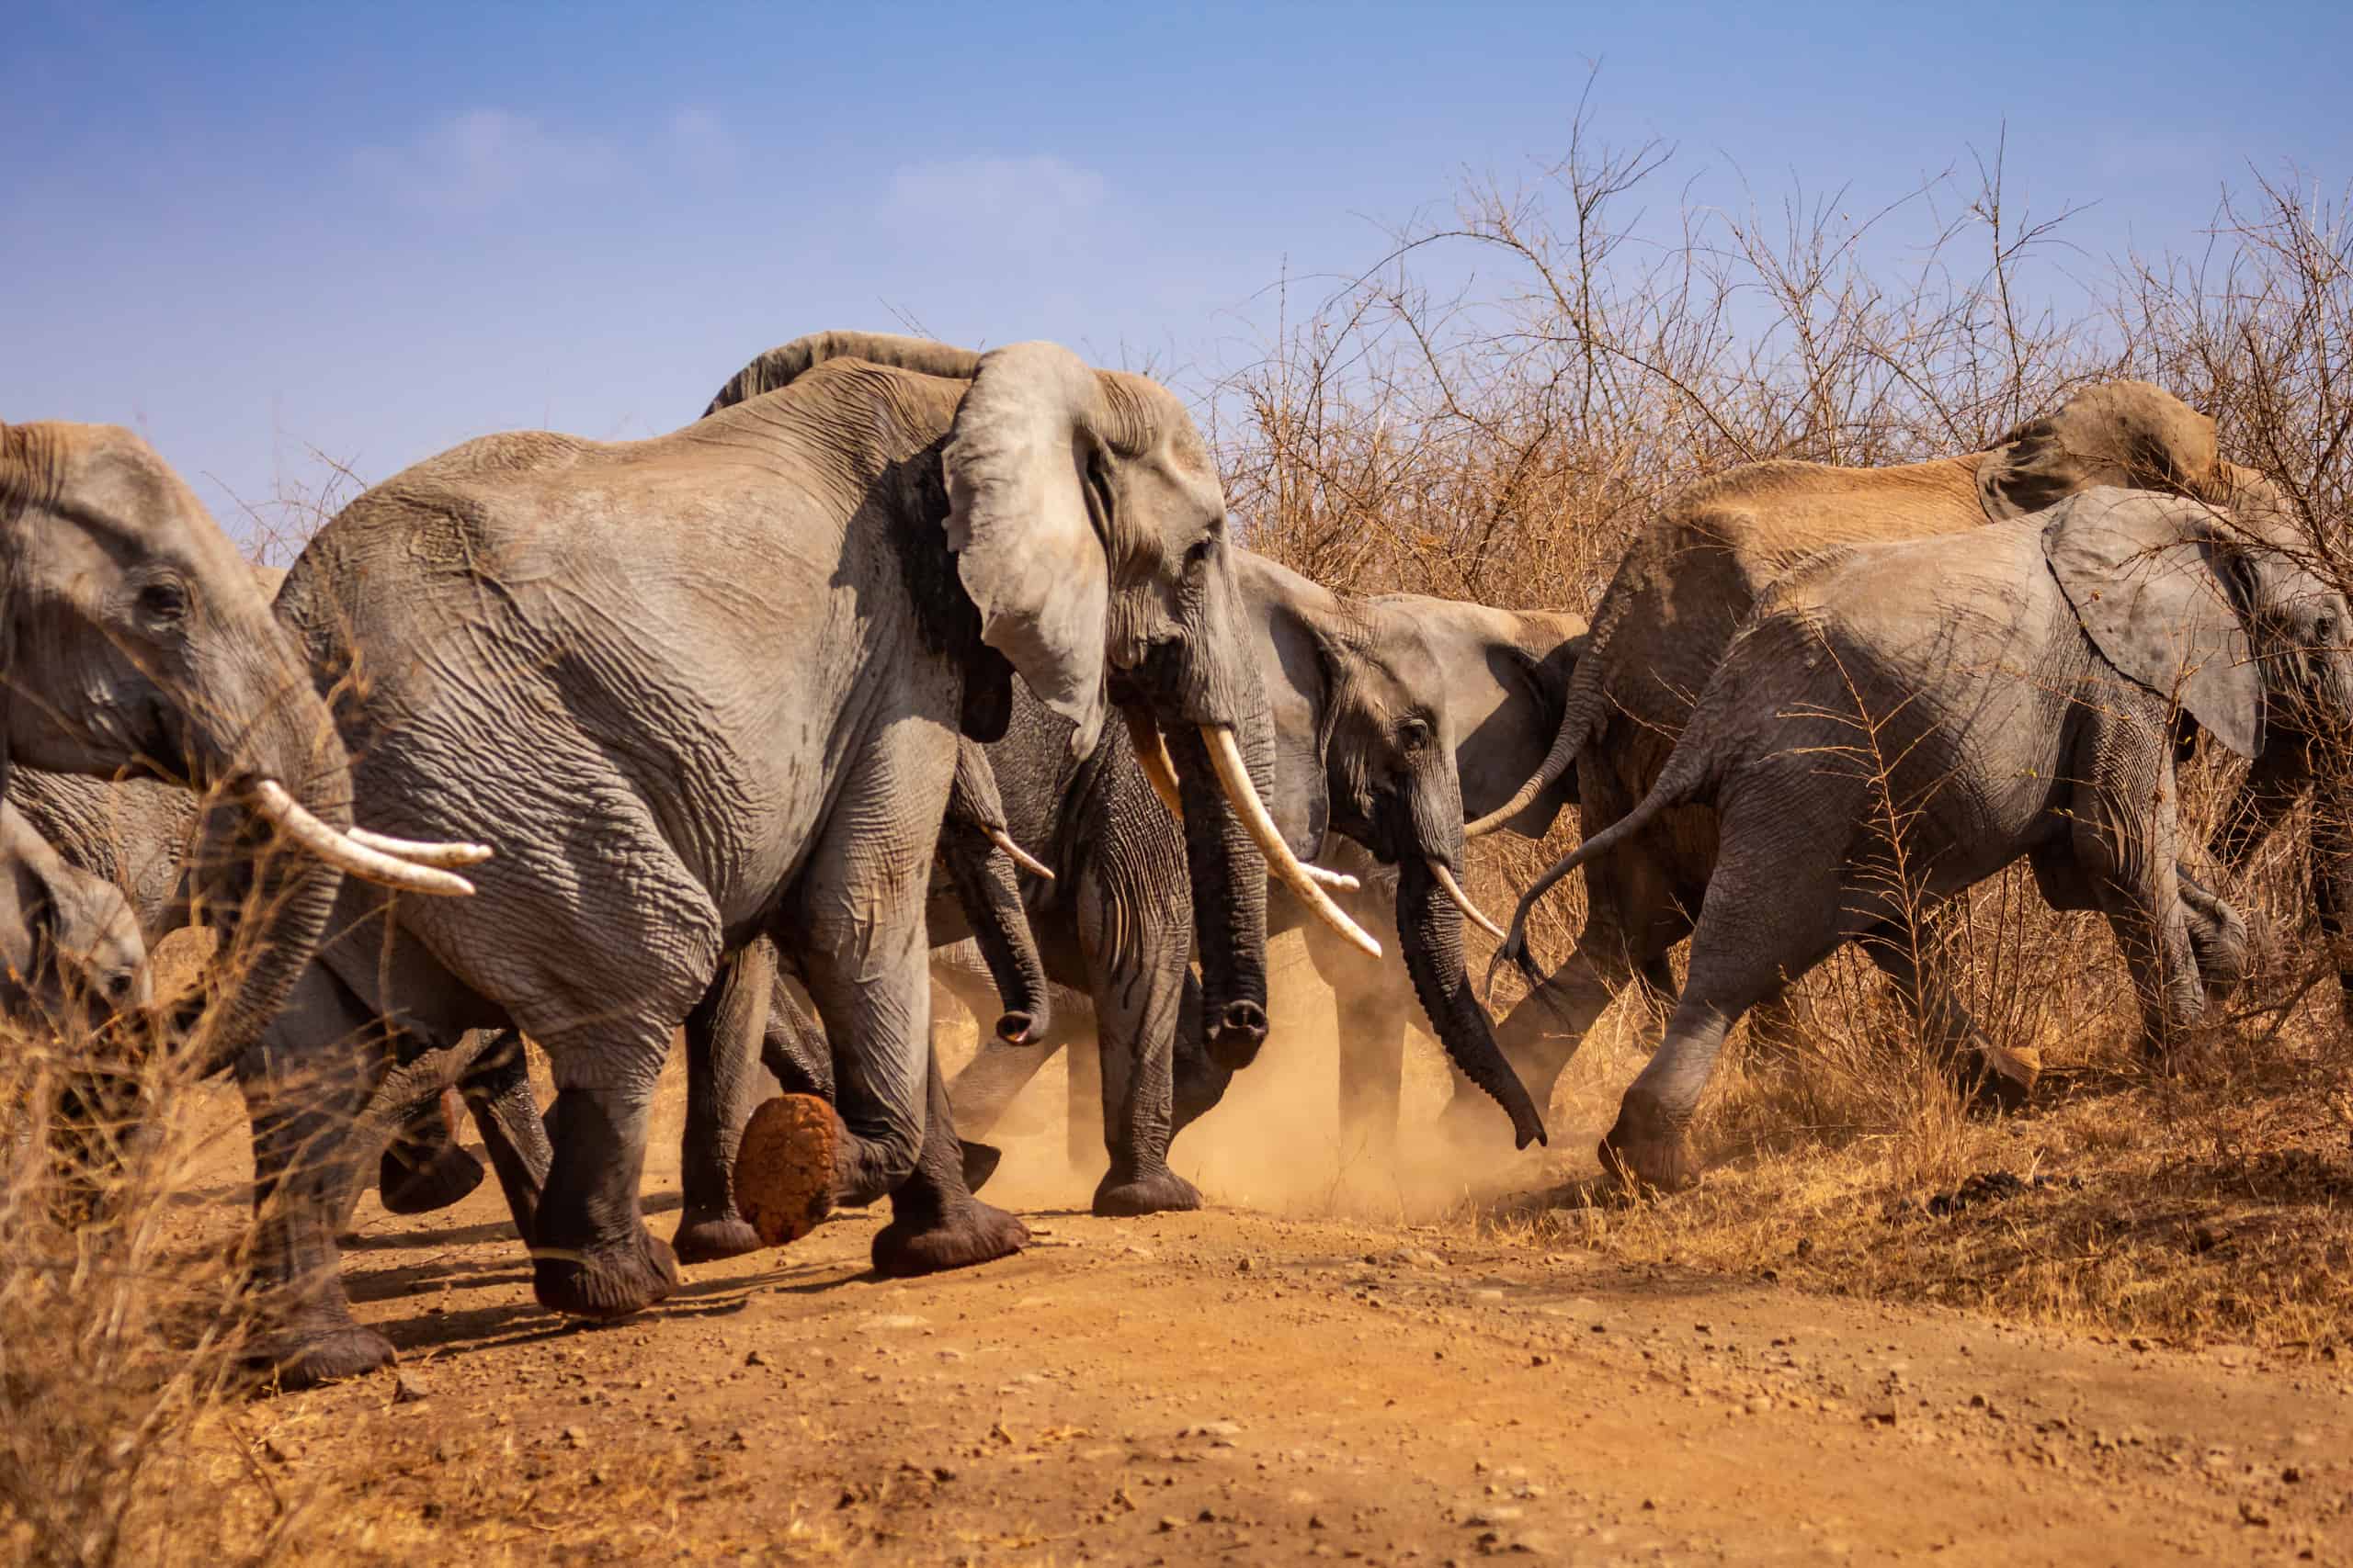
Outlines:
{"label": "dry straw-coloured grass clump in the bottom left corner", "polygon": [[186,1222],[216,1157],[186,1114],[198,1088],[146,1053],[132,1077],[169,1135],[94,1121],[87,1157],[59,1157],[59,1093],[94,1051],[71,1032],[0,1051],[0,1542],[71,1568],[266,1563],[308,1509],[249,1436],[240,1258]]}

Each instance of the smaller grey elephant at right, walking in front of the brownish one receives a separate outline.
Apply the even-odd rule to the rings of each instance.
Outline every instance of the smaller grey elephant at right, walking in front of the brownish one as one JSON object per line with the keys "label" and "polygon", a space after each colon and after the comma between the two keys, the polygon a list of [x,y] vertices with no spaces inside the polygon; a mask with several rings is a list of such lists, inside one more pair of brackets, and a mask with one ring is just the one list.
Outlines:
{"label": "smaller grey elephant at right, walking in front of the brownish one", "polygon": [[2205,1006],[2174,870],[2179,719],[2247,757],[2266,722],[2353,719],[2346,625],[2344,597],[2287,555],[2151,491],[2089,489],[1784,576],[1659,783],[1513,919],[1518,933],[1560,875],[1664,811],[1715,809],[1689,978],[1602,1140],[1605,1168],[1694,1180],[1685,1128],[1741,1013],[1847,940],[1920,1006],[1918,912],[2019,858],[2057,907],[2108,917],[2151,1048],[2179,1041]]}

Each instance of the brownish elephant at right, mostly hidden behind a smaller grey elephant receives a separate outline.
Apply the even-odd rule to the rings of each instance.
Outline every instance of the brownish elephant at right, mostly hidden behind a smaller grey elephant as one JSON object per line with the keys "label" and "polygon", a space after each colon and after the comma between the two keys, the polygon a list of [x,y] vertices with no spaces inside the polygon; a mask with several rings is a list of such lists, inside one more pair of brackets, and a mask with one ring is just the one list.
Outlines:
{"label": "brownish elephant at right, mostly hidden behind a smaller grey elephant", "polygon": [[[1812,552],[1974,531],[2099,484],[2184,494],[2235,508],[2242,520],[2271,517],[2266,527],[2285,510],[2268,480],[2221,458],[2207,416],[2144,381],[2092,386],[1977,454],[1899,468],[1769,461],[1689,487],[1635,536],[1602,592],[1544,764],[1471,823],[1471,837],[1504,825],[1569,773],[1586,837],[1621,820],[1657,783],[1734,630],[1765,588]],[[2238,837],[2217,849],[2233,860],[2242,856],[2308,776],[2304,738],[2275,726],[2249,776],[2249,804],[2233,811]],[[2266,780],[2268,792],[2259,792],[2254,785]],[[1692,933],[1704,905],[1718,823],[1706,802],[1692,802],[1612,844],[1586,870],[1577,952],[1497,1027],[1539,1098],[1631,978],[1673,1001],[1668,952]],[[2322,860],[2315,893],[2334,922],[2334,910],[2353,898],[2353,860],[2334,853]],[[2195,898],[2193,931],[2209,966],[2219,973],[2240,966],[2245,954],[2231,950],[2235,912],[2202,889]],[[1525,952],[1511,957],[1525,966]],[[1934,976],[1922,985],[1939,1009],[1958,1006]],[[2009,1103],[2040,1072],[2033,1051],[1984,1037],[1958,1065]]]}

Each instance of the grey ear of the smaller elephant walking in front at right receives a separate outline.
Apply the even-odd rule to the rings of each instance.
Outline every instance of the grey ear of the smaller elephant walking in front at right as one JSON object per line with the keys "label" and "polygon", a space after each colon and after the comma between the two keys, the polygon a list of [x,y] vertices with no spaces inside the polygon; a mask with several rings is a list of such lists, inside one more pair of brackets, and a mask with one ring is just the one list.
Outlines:
{"label": "grey ear of the smaller elephant walking in front at right", "polygon": [[2085,491],[2052,508],[2042,555],[2118,672],[2177,701],[2240,757],[2264,750],[2264,682],[2238,611],[2242,557],[2202,503]]}

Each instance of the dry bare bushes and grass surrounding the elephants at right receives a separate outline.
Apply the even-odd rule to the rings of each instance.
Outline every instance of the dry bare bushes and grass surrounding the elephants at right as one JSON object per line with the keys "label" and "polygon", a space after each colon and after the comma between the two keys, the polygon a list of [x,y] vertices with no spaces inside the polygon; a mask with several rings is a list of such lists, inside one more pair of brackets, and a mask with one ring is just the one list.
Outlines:
{"label": "dry bare bushes and grass surrounding the elephants at right", "polygon": [[[1273,341],[1209,402],[1252,545],[1344,590],[1591,609],[1633,531],[1692,480],[1765,456],[1969,451],[2082,383],[2141,376],[2212,414],[2224,454],[2273,475],[2313,559],[2353,583],[2339,207],[2299,176],[2254,179],[2179,254],[2101,261],[2068,244],[2071,214],[2017,209],[1998,146],[1960,169],[1882,212],[1845,193],[1701,209],[1673,148],[1607,146],[1581,113],[1525,188],[1468,186],[1452,221],[1400,233],[1304,315],[1285,292]],[[2191,842],[2233,778],[2228,759],[2188,769]],[[2271,914],[2268,964],[2172,1074],[2137,1053],[2106,924],[2045,910],[2021,865],[1965,898],[1929,957],[1993,1039],[2042,1053],[2049,1093],[2031,1114],[1972,1119],[1847,952],[1795,990],[1793,1063],[1741,1063],[1737,1037],[1699,1128],[1720,1168],[1697,1194],[1537,1206],[1534,1225],[2101,1331],[2344,1342],[2353,1051],[2311,929],[2304,830],[2221,879]],[[1546,844],[1487,839],[1475,896],[1511,903],[1572,842],[1574,823]],[[1562,889],[1532,924],[1539,954],[1565,954],[1577,922]],[[1572,1067],[1562,1093],[1584,1124],[1607,1124],[1657,1037],[1638,1011],[1621,1001]],[[1979,1171],[2059,1185],[1920,1211]],[[1527,1204],[1475,1213],[1532,1222]]]}

